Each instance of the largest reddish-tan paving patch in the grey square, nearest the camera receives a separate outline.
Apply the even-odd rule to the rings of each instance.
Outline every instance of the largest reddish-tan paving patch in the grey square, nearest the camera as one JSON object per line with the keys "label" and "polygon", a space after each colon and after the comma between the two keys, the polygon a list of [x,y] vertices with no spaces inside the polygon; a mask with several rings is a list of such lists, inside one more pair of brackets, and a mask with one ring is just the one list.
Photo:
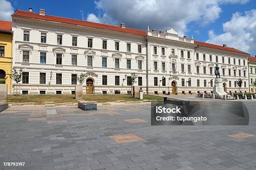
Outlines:
{"label": "largest reddish-tan paving patch in the grey square, nearest the camera", "polygon": [[113,135],[109,136],[109,138],[115,140],[115,142],[119,144],[144,140],[136,135],[133,135],[132,133],[124,135]]}

